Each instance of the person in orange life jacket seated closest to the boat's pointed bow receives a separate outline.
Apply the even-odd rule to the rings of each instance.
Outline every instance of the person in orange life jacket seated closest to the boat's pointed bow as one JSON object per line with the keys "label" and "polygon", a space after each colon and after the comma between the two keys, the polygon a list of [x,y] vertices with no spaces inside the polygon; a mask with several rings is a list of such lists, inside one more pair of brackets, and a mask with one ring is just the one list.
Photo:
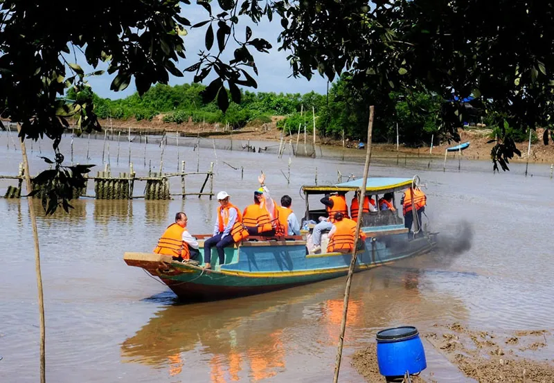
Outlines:
{"label": "person in orange life jacket seated closest to the boat's pointed bow", "polygon": [[200,254],[198,242],[186,229],[187,222],[185,213],[179,211],[175,214],[175,223],[161,235],[154,253],[166,254],[179,261],[197,259]]}

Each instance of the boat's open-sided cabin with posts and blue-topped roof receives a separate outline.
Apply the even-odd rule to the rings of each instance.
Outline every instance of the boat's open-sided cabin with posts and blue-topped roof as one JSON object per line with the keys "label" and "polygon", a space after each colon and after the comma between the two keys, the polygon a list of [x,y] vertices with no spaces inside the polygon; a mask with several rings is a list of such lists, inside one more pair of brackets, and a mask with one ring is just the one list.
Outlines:
{"label": "boat's open-sided cabin with posts and blue-topped roof", "polygon": [[[320,202],[326,194],[343,192],[346,193],[346,203],[348,205],[348,213],[350,215],[350,203],[355,193],[361,189],[362,179],[343,182],[341,184],[325,185],[325,186],[302,186],[301,190],[305,200],[305,214],[302,218],[301,226],[304,226],[306,220],[319,222],[320,216],[327,217],[328,213],[325,210],[325,205]],[[400,193],[412,186],[413,179],[411,178],[390,178],[390,177],[374,177],[369,178],[366,183],[366,195],[373,198],[377,204],[377,211],[362,213],[362,227],[389,226],[399,225],[404,223],[402,217],[402,206],[400,206]],[[385,193],[393,193],[393,206],[395,211],[384,210],[379,208],[379,199]]]}

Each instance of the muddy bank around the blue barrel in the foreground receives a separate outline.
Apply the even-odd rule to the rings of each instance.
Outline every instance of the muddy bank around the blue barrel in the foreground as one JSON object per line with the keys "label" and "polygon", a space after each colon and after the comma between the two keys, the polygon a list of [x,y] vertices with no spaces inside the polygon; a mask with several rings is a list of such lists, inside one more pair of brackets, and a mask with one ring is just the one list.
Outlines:
{"label": "muddy bank around the blue barrel in the foreground", "polygon": [[[551,383],[554,359],[548,344],[554,341],[548,330],[515,331],[506,335],[472,330],[460,323],[435,325],[432,332],[420,335],[424,348],[434,347],[448,362],[479,383]],[[352,365],[367,382],[384,382],[377,366],[377,347],[370,344],[352,357]],[[541,353],[541,350],[546,351]],[[434,368],[427,369],[433,373]],[[431,383],[413,377],[412,382]]]}

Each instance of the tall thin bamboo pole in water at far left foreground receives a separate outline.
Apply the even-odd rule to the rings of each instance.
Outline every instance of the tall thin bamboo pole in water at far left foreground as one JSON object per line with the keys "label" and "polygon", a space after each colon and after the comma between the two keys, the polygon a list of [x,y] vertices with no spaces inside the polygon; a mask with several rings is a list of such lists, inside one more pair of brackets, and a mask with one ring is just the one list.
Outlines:
{"label": "tall thin bamboo pole in water at far left foreground", "polygon": [[[21,125],[17,124],[17,133],[21,133]],[[25,174],[25,184],[27,188],[27,194],[33,190],[33,186],[30,183],[29,163],[27,161],[27,151],[25,149],[25,142],[19,141],[21,145],[21,156],[23,157],[23,166]],[[35,243],[35,274],[37,274],[37,290],[39,301],[39,328],[40,328],[40,345],[39,345],[39,358],[40,358],[40,382],[46,383],[46,325],[44,323],[44,292],[42,291],[42,274],[40,271],[40,247],[39,247],[39,232],[37,229],[37,217],[35,215],[35,208],[33,206],[33,198],[27,198],[29,206],[29,217],[31,227],[33,229],[33,242]]]}

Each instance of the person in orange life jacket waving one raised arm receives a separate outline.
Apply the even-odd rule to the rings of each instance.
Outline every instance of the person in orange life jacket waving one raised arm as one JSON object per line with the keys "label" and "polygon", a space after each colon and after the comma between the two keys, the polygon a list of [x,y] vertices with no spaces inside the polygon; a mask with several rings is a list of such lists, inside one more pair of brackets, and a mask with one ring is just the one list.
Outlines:
{"label": "person in orange life jacket waving one raised arm", "polygon": [[276,235],[278,226],[276,204],[265,186],[265,175],[258,177],[260,188],[254,191],[254,203],[242,213],[242,223],[250,235]]}

